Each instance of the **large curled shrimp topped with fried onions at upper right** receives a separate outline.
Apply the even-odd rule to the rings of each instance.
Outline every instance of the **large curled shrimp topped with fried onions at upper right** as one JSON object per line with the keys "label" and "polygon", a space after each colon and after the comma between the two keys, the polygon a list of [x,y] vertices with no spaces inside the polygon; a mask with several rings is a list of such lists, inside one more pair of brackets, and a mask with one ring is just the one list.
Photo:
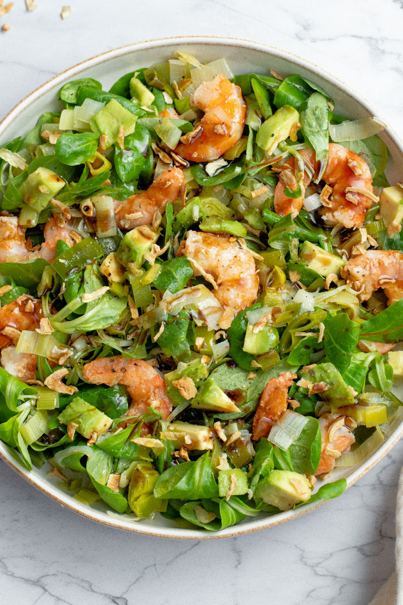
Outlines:
{"label": "large curled shrimp topped with fried onions at upper right", "polygon": [[[317,162],[314,150],[301,149],[300,154],[306,160],[306,164],[308,163],[308,166],[310,164],[315,174],[318,174],[321,163]],[[286,187],[291,190],[297,188],[295,158],[291,157],[281,168],[282,173],[286,170],[289,174],[288,178],[285,178],[285,174],[283,178],[280,176],[281,180],[277,183],[274,192],[274,209],[282,217],[291,212],[292,218],[295,218],[302,208],[303,197],[294,199],[284,193]],[[312,178],[311,174],[304,172],[305,187],[309,185]],[[329,200],[329,204],[332,204],[331,208],[322,206],[320,209],[324,222],[331,226],[341,223],[347,229],[362,227],[367,210],[372,205],[372,201],[376,200],[367,163],[347,147],[330,143],[329,159],[322,178],[327,185],[333,187]],[[287,181],[288,185],[285,184]]]}

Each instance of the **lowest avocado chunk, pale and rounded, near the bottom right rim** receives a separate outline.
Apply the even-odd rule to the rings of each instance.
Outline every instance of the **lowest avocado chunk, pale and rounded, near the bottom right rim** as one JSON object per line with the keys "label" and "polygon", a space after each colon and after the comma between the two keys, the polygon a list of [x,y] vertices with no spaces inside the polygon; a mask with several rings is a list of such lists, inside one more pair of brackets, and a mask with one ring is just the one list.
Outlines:
{"label": "lowest avocado chunk, pale and rounded, near the bottom right rim", "polygon": [[306,502],[311,497],[311,483],[305,475],[292,471],[271,471],[257,483],[254,495],[280,511]]}

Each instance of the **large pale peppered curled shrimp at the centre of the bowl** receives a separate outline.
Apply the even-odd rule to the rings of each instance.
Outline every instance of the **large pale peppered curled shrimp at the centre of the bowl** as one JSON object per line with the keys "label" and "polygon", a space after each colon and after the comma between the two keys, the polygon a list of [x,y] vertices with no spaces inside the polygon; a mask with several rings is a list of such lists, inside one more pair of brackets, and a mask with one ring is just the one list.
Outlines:
{"label": "large pale peppered curled shrimp at the centre of the bowl", "polygon": [[213,284],[223,307],[239,312],[256,301],[259,277],[254,258],[235,238],[188,231],[177,255],[189,258],[195,275]]}

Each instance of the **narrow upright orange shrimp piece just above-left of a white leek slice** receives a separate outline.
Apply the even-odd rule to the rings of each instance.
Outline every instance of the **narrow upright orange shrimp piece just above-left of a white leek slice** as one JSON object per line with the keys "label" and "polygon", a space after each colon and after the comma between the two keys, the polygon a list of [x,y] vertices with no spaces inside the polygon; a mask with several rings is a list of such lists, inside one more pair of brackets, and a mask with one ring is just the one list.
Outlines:
{"label": "narrow upright orange shrimp piece just above-left of a white leek slice", "polygon": [[285,372],[272,378],[265,386],[253,419],[253,439],[267,437],[271,427],[283,416],[288,405],[288,388],[297,374]]}

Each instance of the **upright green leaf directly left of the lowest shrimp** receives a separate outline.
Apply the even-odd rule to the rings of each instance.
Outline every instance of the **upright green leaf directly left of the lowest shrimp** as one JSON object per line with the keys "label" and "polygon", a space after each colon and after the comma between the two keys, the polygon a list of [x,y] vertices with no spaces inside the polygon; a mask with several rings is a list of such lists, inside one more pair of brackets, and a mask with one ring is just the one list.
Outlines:
{"label": "upright green leaf directly left of the lowest shrimp", "polygon": [[317,418],[306,416],[306,419],[300,436],[289,446],[289,455],[294,471],[313,475],[320,460],[321,433]]}

